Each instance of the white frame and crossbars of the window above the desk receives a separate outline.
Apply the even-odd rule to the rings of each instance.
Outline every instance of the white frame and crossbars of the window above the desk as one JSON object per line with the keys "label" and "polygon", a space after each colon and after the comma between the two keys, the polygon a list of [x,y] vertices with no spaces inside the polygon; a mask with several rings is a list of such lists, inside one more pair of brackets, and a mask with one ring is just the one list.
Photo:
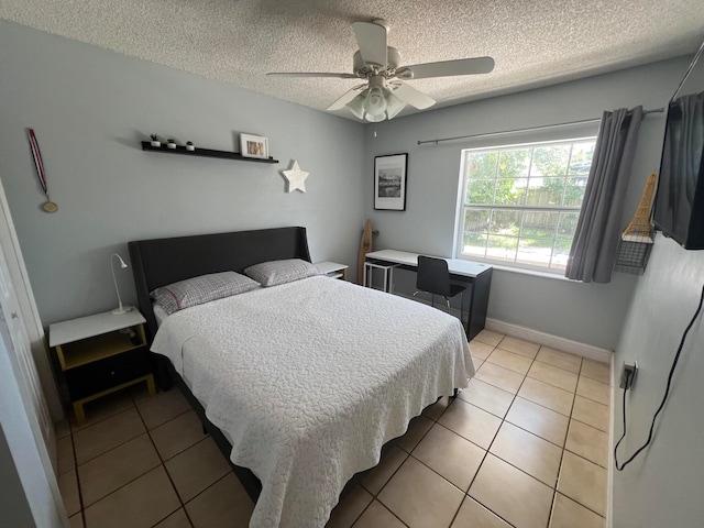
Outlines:
{"label": "white frame and crossbars of the window above the desk", "polygon": [[[519,211],[529,211],[529,212],[580,212],[581,206],[505,206],[505,205],[466,205],[465,204],[465,189],[468,187],[468,179],[470,172],[466,169],[466,163],[469,161],[470,154],[473,152],[501,152],[501,151],[510,151],[510,150],[519,150],[519,148],[536,148],[540,146],[547,145],[564,145],[564,144],[574,144],[574,143],[584,143],[590,141],[596,141],[596,136],[588,135],[579,135],[579,136],[569,136],[569,138],[556,138],[549,141],[532,141],[532,142],[521,142],[521,143],[512,143],[512,144],[496,144],[488,146],[479,146],[472,148],[463,148],[460,152],[461,161],[460,161],[460,174],[459,174],[459,186],[458,186],[458,209],[455,216],[455,241],[454,241],[454,256],[457,258],[462,258],[466,261],[476,261],[476,262],[486,262],[490,264],[497,265],[499,267],[514,268],[516,271],[531,271],[531,272],[540,272],[548,275],[563,275],[564,270],[561,267],[549,267],[552,262],[552,257],[554,256],[554,241],[557,239],[557,230],[553,234],[553,246],[551,252],[550,263],[547,266],[528,264],[522,262],[512,262],[502,258],[492,258],[488,256],[480,256],[475,254],[464,254],[463,253],[463,244],[464,244],[464,220],[466,218],[468,209],[472,210],[519,210]],[[532,162],[532,160],[531,160]],[[531,164],[529,165],[531,166]],[[568,160],[568,167],[570,166],[570,160]],[[566,189],[565,189],[566,190]],[[525,217],[521,217],[525,218]],[[521,220],[522,221],[522,220]],[[520,241],[520,238],[518,238]],[[518,254],[517,254],[518,255]]]}

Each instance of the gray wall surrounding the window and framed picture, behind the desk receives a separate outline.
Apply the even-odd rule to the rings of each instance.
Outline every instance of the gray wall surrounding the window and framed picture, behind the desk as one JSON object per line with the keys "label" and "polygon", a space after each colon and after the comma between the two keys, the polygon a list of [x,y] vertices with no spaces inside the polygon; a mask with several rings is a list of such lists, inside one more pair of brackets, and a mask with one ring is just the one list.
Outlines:
{"label": "gray wall surrounding the window and framed picture, behind the desk", "polygon": [[[688,59],[662,62],[369,127],[364,199],[366,216],[380,230],[374,248],[452,254],[460,151],[477,146],[477,142],[419,146],[419,140],[581,121],[598,118],[603,110],[637,105],[660,108],[668,102],[688,64]],[[659,166],[663,127],[664,114],[648,116],[642,123],[624,227],[636,210],[646,178]],[[515,135],[509,141],[527,138]],[[375,211],[374,156],[404,152],[408,153],[406,211]],[[635,277],[624,274],[614,274],[608,285],[597,285],[495,271],[488,317],[613,350],[635,284]],[[398,286],[404,292],[413,289],[413,284]]]}

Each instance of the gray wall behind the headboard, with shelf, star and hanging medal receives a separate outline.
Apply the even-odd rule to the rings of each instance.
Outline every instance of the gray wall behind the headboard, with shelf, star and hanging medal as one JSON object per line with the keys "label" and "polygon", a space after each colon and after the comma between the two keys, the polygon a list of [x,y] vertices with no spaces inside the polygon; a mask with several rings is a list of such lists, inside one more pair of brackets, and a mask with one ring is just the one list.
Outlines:
{"label": "gray wall behind the headboard, with shelf, star and hanging medal", "polygon": [[[0,177],[45,326],[117,306],[110,254],[135,239],[308,228],[314,261],[353,264],[363,228],[363,125],[0,21]],[[58,212],[43,195],[36,132]],[[150,133],[239,151],[265,135],[278,165],[142,152]],[[279,170],[297,160],[307,193]],[[119,273],[134,302],[130,271]]]}

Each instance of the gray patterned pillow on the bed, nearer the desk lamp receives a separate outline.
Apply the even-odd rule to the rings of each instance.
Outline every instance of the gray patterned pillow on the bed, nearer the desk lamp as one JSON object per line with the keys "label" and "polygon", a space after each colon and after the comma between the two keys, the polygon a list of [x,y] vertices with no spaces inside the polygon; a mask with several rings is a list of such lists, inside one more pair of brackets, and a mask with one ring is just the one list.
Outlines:
{"label": "gray patterned pillow on the bed, nearer the desk lamp", "polygon": [[156,288],[150,295],[167,314],[258,288],[258,283],[234,272],[212,273]]}

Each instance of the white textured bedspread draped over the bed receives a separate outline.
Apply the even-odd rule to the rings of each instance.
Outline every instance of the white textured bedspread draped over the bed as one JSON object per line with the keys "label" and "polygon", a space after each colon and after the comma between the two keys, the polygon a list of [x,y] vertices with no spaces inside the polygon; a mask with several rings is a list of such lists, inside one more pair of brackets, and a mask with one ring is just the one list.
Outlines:
{"label": "white textured bedspread draped over the bed", "polygon": [[323,527],[346,481],[474,374],[457,318],[328,277],[176,312],[152,351],[262,481],[252,528]]}

